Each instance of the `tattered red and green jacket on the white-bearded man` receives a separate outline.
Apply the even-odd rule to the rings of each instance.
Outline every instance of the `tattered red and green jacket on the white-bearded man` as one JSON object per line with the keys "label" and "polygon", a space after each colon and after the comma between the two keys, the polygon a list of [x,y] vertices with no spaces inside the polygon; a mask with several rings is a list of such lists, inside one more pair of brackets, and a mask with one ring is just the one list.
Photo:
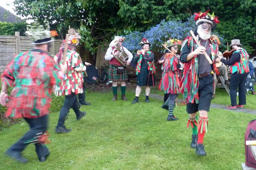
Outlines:
{"label": "tattered red and green jacket on the white-bearded man", "polygon": [[[200,41],[200,38],[199,40]],[[185,51],[184,47],[189,46],[190,51]],[[193,52],[197,48],[196,41],[194,41],[193,37],[188,36],[184,39],[182,46],[181,46],[181,54],[180,54],[180,62],[184,63],[184,72],[183,77],[181,79],[181,93],[183,94],[183,101],[187,103],[196,103],[199,102],[198,96],[198,57],[195,55],[190,61],[186,62],[187,55],[190,52]],[[210,48],[211,48],[211,56],[209,56],[212,60],[214,59],[215,55],[217,54],[218,44],[217,41],[210,41]],[[186,54],[185,54],[186,53]],[[214,62],[213,62],[214,63]],[[213,64],[212,64],[213,70]],[[213,73],[213,72],[212,72]]]}

